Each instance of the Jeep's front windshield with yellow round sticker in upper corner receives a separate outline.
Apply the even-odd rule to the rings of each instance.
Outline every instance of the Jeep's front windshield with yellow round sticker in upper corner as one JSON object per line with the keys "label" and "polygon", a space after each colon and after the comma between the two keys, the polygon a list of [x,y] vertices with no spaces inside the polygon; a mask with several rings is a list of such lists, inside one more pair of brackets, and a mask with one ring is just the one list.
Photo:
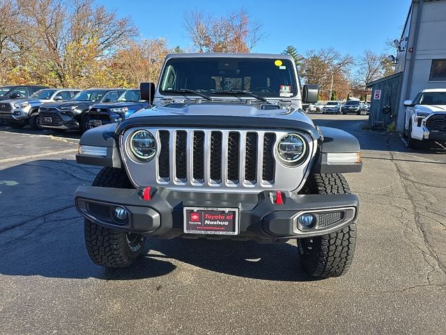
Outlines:
{"label": "Jeep's front windshield with yellow round sticker in upper corner", "polygon": [[169,59],[161,76],[160,93],[174,95],[181,89],[218,96],[250,91],[263,98],[289,98],[298,93],[291,61],[246,57]]}

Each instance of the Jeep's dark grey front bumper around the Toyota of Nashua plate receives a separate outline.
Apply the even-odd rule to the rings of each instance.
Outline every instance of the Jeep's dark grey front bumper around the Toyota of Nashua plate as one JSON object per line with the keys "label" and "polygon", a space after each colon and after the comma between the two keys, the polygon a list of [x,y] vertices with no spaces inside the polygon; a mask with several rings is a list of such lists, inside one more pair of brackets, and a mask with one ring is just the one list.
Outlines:
{"label": "Jeep's dark grey front bumper around the Toyota of Nashua plate", "polygon": [[[274,193],[275,194],[275,193]],[[80,186],[75,194],[77,210],[85,218],[114,229],[171,239],[239,239],[260,242],[328,234],[355,221],[359,202],[355,195],[295,195],[284,192],[284,204],[275,204],[272,192],[200,193],[151,188],[151,200],[141,199],[141,190]],[[127,209],[128,221],[116,223],[114,207]],[[203,235],[183,232],[183,207],[227,207],[240,209],[238,235]],[[297,218],[314,214],[316,225],[300,230]],[[333,218],[330,221],[330,218]]]}

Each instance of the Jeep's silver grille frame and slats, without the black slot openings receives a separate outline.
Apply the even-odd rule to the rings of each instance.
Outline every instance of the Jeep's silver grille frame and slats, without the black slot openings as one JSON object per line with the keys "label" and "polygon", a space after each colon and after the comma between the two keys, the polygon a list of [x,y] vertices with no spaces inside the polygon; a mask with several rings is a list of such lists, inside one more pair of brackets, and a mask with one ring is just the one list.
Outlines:
{"label": "Jeep's silver grille frame and slats, without the black slot openings", "polygon": [[[148,163],[138,163],[132,160],[128,143],[128,137],[138,130],[146,130],[152,133],[157,142],[157,153]],[[161,152],[160,131],[169,132],[169,179],[161,178],[158,170],[158,161]],[[186,147],[186,179],[176,178],[176,133],[185,131],[187,136]],[[204,133],[203,142],[203,181],[193,179],[193,134],[195,131]],[[222,180],[220,182],[210,179],[210,135],[211,132],[219,131],[222,133]],[[238,183],[233,183],[228,179],[228,139],[229,133],[238,133],[240,136],[238,151]],[[257,157],[256,157],[256,182],[245,181],[245,156],[246,156],[246,136],[247,133],[257,134]],[[264,181],[263,175],[263,137],[266,133],[275,133],[275,142],[272,145],[272,156],[275,161],[275,180],[273,183]],[[316,154],[316,141],[308,134],[298,133],[306,142],[308,154],[306,154],[302,163],[297,166],[284,166],[277,162],[275,147],[283,135],[288,133],[298,133],[295,131],[269,131],[256,129],[219,129],[219,128],[153,128],[153,127],[135,127],[125,131],[120,136],[120,153],[123,158],[125,170],[132,184],[139,188],[141,186],[161,186],[171,190],[178,191],[216,191],[216,192],[253,192],[259,193],[266,190],[280,191],[298,191],[305,184],[305,179],[309,173],[309,166]]]}

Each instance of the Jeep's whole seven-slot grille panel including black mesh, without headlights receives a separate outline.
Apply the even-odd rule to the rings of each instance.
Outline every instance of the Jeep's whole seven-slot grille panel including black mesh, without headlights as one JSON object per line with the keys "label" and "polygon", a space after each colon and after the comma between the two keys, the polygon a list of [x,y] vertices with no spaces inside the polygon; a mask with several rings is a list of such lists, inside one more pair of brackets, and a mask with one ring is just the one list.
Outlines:
{"label": "Jeep's whole seven-slot grille panel including black mesh, without headlights", "polygon": [[[128,141],[145,129],[157,142],[152,161],[132,156]],[[295,167],[276,160],[277,141],[286,130],[137,127],[121,135],[125,169],[135,187],[158,186],[178,191],[260,192],[298,191],[314,158],[316,141],[302,133],[309,154]]]}

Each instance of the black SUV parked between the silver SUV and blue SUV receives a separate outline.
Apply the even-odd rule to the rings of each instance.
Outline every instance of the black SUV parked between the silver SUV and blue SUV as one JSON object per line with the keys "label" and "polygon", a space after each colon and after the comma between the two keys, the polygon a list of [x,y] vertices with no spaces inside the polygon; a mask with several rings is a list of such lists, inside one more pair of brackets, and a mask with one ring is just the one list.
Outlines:
{"label": "black SUV parked between the silver SUV and blue SUV", "polygon": [[67,129],[89,129],[86,112],[94,103],[112,103],[125,92],[125,89],[86,89],[76,94],[70,101],[44,103],[39,108],[40,126],[56,131]]}

